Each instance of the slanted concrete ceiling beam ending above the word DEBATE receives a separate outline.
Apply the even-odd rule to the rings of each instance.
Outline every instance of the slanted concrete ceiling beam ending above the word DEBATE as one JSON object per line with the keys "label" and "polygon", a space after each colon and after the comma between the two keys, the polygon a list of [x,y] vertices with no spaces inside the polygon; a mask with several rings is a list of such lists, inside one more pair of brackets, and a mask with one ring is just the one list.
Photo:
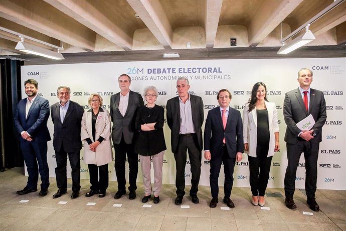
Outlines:
{"label": "slanted concrete ceiling beam ending above the word DEBATE", "polygon": [[173,30],[158,0],[127,0],[159,43],[169,49],[172,46]]}

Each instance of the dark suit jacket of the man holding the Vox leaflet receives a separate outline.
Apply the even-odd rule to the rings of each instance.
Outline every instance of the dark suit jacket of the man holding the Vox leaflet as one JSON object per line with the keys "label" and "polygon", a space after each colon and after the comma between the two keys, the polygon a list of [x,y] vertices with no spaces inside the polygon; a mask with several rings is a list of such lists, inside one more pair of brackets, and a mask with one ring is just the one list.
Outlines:
{"label": "dark suit jacket of the man holding the Vox leaflet", "polygon": [[287,125],[285,134],[285,141],[287,143],[295,144],[298,139],[302,140],[298,137],[301,130],[298,129],[296,123],[306,118],[309,114],[312,115],[316,122],[312,127],[316,136],[310,141],[312,143],[319,143],[322,141],[322,127],[327,119],[323,92],[310,88],[308,112],[306,112],[303,97],[301,96],[299,88],[286,93],[283,103],[283,116]]}

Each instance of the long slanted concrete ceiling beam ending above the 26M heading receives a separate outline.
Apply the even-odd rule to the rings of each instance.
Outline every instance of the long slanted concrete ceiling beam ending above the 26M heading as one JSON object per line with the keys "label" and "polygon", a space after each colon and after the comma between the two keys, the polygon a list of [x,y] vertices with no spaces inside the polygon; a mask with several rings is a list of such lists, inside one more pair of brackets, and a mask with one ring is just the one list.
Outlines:
{"label": "long slanted concrete ceiling beam ending above the 26M heading", "polygon": [[44,0],[80,24],[95,31],[124,50],[132,49],[132,38],[85,0]]}

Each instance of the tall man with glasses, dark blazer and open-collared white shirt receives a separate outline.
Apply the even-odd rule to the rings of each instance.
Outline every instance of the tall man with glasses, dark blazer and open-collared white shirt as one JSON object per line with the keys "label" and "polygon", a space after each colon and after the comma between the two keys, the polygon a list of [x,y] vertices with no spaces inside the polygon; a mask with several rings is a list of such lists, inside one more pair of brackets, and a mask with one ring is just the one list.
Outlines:
{"label": "tall man with glasses, dark blazer and open-collared white shirt", "polygon": [[119,199],[126,193],[125,161],[129,165],[128,198],[136,198],[136,180],[138,173],[138,154],[134,153],[134,121],[135,113],[143,105],[140,94],[129,89],[131,78],[127,74],[118,77],[120,92],[110,97],[110,116],[112,118],[112,140],[115,151],[115,174],[118,181],[118,191],[114,199]]}

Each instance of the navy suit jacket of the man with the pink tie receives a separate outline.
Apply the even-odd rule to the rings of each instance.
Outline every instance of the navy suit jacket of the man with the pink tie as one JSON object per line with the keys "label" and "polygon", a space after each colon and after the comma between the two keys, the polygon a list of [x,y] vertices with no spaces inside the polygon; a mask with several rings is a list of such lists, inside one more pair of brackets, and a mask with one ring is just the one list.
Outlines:
{"label": "navy suit jacket of the man with the pink tie", "polygon": [[211,158],[222,155],[222,142],[225,137],[230,158],[236,158],[237,152],[244,152],[243,124],[240,111],[229,107],[226,129],[222,123],[220,106],[208,111],[204,129],[204,150],[210,150]]}

